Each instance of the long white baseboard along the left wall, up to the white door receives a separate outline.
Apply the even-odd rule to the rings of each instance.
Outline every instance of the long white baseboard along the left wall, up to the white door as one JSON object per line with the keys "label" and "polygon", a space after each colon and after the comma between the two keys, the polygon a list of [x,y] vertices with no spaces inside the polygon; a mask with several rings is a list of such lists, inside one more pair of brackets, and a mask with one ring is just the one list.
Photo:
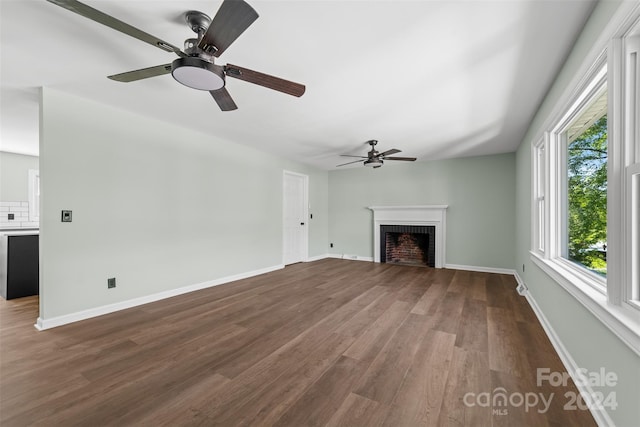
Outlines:
{"label": "long white baseboard along the left wall, up to the white door", "polygon": [[90,308],[88,310],[82,310],[75,313],[65,314],[62,316],[56,316],[50,319],[43,319],[41,317],[38,317],[38,320],[34,326],[39,331],[43,331],[45,329],[51,329],[57,326],[66,325],[68,323],[78,322],[80,320],[102,316],[104,314],[109,314],[115,311],[136,307],[142,304],[148,304],[150,302],[175,297],[177,295],[182,295],[182,294],[186,294],[193,291],[199,291],[201,289],[211,288],[213,286],[218,286],[218,285],[222,285],[229,282],[235,282],[236,280],[247,279],[253,276],[259,276],[260,274],[270,273],[272,271],[280,270],[281,268],[284,268],[283,264],[261,268],[261,269],[249,271],[246,273],[235,274],[233,276],[222,277],[220,279],[215,279],[208,282],[202,282],[202,283],[196,283],[194,285],[183,286],[177,289],[170,289],[168,291],[158,292],[151,295],[145,295],[139,298],[133,298],[126,301],[107,304],[100,307]]}

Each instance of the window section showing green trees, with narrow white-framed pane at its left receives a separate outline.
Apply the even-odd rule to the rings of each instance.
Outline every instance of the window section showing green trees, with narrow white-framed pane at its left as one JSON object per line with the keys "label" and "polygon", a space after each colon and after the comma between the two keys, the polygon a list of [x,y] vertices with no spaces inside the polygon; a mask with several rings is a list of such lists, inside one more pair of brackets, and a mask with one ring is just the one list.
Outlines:
{"label": "window section showing green trees, with narrow white-framed pane at its left", "polygon": [[604,293],[607,284],[606,55],[534,144],[537,255]]}

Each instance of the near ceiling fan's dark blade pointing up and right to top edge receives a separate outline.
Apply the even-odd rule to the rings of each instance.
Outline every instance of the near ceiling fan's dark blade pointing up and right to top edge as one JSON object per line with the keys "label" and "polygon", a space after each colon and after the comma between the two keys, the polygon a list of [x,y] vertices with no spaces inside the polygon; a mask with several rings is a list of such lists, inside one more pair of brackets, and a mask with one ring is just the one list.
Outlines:
{"label": "near ceiling fan's dark blade pointing up and right to top edge", "polygon": [[224,0],[198,46],[218,57],[258,16],[258,12],[243,0]]}

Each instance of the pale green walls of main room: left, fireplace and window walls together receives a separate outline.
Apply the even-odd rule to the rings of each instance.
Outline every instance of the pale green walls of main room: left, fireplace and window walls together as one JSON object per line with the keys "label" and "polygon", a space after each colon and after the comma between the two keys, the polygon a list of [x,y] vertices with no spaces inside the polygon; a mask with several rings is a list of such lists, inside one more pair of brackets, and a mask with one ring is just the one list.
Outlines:
{"label": "pale green walls of main room: left, fireplace and window walls together", "polygon": [[367,206],[448,204],[447,263],[516,268],[577,364],[618,374],[609,413],[636,425],[638,356],[528,253],[530,140],[616,6],[599,3],[515,155],[327,173],[44,89],[41,317],[280,264],[287,169],[310,176],[310,256],[372,256]]}

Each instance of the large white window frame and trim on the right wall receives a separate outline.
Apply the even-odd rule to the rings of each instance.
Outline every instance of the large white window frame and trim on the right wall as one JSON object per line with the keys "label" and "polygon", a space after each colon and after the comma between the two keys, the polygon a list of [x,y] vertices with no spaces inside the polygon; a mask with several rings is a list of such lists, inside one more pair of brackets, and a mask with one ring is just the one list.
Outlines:
{"label": "large white window frame and trim on the right wall", "polygon": [[[630,38],[634,34],[636,37]],[[563,131],[603,83],[608,93],[607,279],[563,258]],[[640,4],[623,3],[532,140],[531,259],[640,355]],[[535,154],[546,154],[540,161]],[[542,192],[536,186],[545,173]],[[544,216],[536,213],[544,197]],[[544,230],[540,230],[543,227]],[[540,242],[540,237],[543,241]],[[563,241],[564,240],[564,241]],[[542,244],[541,244],[542,243]]]}

